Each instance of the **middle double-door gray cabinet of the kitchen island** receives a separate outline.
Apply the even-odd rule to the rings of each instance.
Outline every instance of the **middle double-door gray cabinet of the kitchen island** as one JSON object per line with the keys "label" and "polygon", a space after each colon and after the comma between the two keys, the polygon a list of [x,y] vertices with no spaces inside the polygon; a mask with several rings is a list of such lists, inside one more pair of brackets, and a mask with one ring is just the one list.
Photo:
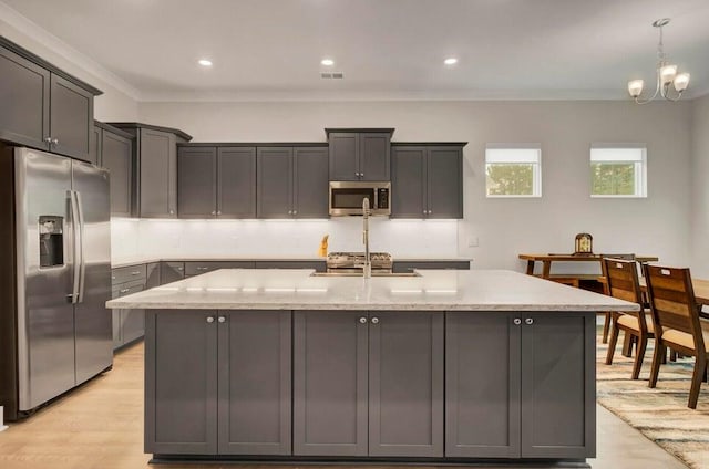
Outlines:
{"label": "middle double-door gray cabinet of the kitchen island", "polygon": [[297,311],[294,454],[443,456],[443,316]]}

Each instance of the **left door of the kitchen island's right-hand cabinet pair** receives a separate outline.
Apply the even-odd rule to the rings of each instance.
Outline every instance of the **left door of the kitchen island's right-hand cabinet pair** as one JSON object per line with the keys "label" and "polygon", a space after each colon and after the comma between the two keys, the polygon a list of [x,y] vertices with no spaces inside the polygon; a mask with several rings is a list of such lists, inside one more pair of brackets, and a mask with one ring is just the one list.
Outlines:
{"label": "left door of the kitchen island's right-hand cabinet pair", "polygon": [[445,456],[520,457],[520,314],[445,313]]}

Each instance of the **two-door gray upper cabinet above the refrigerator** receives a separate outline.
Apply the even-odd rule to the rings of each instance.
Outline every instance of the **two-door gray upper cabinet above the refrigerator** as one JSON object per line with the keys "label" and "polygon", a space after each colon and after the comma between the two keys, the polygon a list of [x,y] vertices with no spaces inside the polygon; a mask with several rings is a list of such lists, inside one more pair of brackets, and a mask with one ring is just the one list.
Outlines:
{"label": "two-door gray upper cabinet above the refrigerator", "polygon": [[0,139],[92,161],[99,90],[0,37]]}

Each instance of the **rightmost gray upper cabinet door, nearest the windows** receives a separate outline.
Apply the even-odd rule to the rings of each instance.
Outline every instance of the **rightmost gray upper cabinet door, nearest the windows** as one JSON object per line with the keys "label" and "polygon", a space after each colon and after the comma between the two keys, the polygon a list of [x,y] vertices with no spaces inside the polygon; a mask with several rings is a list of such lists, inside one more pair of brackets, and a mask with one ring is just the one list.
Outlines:
{"label": "rightmost gray upper cabinet door, nearest the windows", "polygon": [[463,152],[429,147],[428,218],[463,218]]}

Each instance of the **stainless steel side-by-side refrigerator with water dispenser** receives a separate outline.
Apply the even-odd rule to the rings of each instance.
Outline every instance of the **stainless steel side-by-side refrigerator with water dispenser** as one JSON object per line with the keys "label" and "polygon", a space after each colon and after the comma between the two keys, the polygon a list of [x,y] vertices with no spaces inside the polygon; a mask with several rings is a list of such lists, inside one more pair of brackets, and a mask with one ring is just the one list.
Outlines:
{"label": "stainless steel side-by-side refrigerator with water dispenser", "polygon": [[13,212],[0,217],[0,405],[12,420],[113,364],[109,173],[29,148],[0,157]]}

